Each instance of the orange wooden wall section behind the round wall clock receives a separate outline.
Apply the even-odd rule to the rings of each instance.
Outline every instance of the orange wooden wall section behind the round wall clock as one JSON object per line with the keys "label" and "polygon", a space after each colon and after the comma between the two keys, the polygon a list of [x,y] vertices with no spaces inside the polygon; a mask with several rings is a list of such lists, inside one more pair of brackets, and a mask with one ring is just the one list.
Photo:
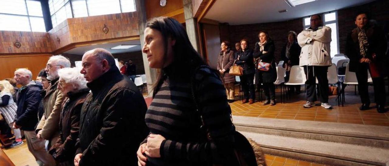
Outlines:
{"label": "orange wooden wall section behind the round wall clock", "polygon": [[147,20],[159,16],[173,17],[184,13],[182,0],[167,0],[165,7],[161,7],[159,2],[160,0],[147,0],[145,3]]}

